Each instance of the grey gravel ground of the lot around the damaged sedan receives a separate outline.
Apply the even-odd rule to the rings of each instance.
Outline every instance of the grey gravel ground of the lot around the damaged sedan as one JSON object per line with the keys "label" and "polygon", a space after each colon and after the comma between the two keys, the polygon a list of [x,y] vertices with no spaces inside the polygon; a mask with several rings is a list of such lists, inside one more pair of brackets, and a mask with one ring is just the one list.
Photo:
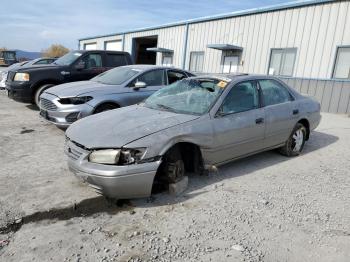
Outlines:
{"label": "grey gravel ground of the lot around the damaged sedan", "polygon": [[304,153],[190,177],[182,196],[107,201],[68,171],[64,132],[0,92],[1,261],[349,261],[350,118]]}

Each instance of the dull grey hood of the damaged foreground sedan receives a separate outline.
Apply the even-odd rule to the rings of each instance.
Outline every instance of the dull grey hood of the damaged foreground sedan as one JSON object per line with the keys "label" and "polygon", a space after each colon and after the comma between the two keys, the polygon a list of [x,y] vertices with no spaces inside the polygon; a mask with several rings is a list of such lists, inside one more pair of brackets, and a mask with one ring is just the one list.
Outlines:
{"label": "dull grey hood of the damaged foreground sedan", "polygon": [[73,123],[66,135],[89,149],[121,148],[145,136],[197,118],[199,116],[133,105],[83,118]]}

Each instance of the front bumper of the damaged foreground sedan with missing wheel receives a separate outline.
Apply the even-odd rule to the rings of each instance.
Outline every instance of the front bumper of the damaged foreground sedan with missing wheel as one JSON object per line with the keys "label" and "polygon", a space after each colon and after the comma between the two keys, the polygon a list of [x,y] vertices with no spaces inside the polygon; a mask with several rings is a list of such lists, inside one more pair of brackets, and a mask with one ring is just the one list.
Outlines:
{"label": "front bumper of the damaged foreground sedan with missing wheel", "polygon": [[65,146],[69,169],[98,193],[112,198],[147,197],[152,193],[153,180],[161,161],[114,166],[88,161],[90,151],[71,141]]}

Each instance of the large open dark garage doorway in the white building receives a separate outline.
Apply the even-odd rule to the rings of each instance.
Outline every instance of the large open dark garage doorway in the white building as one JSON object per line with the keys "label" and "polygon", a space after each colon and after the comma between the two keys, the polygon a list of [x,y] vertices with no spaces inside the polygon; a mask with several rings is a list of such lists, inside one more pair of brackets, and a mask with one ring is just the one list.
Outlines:
{"label": "large open dark garage doorway in the white building", "polygon": [[133,39],[133,58],[135,64],[155,65],[157,53],[147,51],[147,48],[157,47],[158,36],[146,36]]}

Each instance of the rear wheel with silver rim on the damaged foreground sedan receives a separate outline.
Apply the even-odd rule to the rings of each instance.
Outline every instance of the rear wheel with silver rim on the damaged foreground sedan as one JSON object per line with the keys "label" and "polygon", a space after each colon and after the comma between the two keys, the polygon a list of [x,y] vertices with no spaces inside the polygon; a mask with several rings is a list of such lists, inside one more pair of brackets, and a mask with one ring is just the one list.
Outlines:
{"label": "rear wheel with silver rim on the damaged foreground sedan", "polygon": [[304,148],[305,141],[306,128],[304,125],[297,123],[285,145],[279,149],[279,152],[288,157],[298,156]]}

